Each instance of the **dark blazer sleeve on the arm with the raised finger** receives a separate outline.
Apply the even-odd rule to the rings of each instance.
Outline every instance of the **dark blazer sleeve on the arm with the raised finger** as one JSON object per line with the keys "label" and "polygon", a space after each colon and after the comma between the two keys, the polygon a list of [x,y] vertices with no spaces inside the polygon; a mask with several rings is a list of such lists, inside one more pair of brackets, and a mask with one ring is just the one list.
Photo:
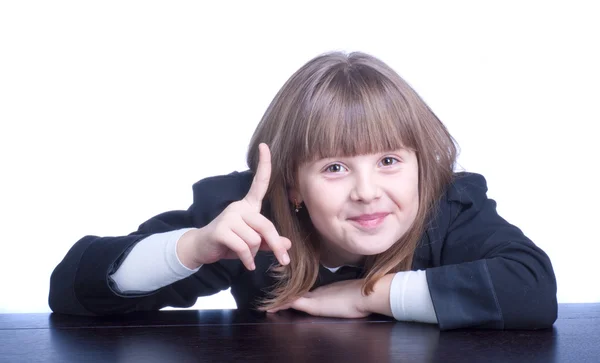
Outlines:
{"label": "dark blazer sleeve on the arm with the raised finger", "polygon": [[50,277],[51,310],[75,315],[106,315],[158,310],[165,306],[189,307],[199,296],[229,288],[232,280],[243,272],[243,265],[237,260],[202,266],[183,280],[144,294],[119,294],[109,275],[145,237],[186,227],[201,228],[210,223],[227,205],[243,197],[246,183],[241,181],[245,178],[247,176],[236,172],[201,180],[193,187],[194,202],[188,210],[152,217],[127,236],[81,238]]}

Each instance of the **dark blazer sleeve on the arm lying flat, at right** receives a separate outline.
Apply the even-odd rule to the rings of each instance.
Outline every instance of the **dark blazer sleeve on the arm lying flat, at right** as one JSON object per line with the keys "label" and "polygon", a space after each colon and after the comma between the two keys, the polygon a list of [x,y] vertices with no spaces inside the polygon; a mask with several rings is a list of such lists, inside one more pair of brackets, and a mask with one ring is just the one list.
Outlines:
{"label": "dark blazer sleeve on the arm lying flat, at right", "polygon": [[496,212],[485,179],[462,173],[430,229],[427,282],[440,329],[536,329],[557,316],[549,257]]}

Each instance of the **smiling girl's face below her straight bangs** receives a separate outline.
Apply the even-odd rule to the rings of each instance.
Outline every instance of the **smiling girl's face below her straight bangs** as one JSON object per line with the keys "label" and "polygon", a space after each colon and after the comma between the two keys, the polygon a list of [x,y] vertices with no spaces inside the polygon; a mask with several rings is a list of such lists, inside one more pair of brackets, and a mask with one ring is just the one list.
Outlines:
{"label": "smiling girl's face below her straight bangs", "polygon": [[384,252],[419,207],[417,157],[406,149],[302,164],[292,202],[304,202],[321,237],[321,261],[336,267]]}

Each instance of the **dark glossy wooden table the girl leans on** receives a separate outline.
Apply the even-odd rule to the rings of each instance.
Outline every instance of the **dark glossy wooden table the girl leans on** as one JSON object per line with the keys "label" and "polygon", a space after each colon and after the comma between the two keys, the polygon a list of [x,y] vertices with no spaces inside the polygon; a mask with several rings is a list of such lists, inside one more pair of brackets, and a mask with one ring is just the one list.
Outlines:
{"label": "dark glossy wooden table the girl leans on", "polygon": [[284,312],[126,317],[0,314],[1,362],[600,362],[600,304],[563,304],[552,329],[457,330]]}

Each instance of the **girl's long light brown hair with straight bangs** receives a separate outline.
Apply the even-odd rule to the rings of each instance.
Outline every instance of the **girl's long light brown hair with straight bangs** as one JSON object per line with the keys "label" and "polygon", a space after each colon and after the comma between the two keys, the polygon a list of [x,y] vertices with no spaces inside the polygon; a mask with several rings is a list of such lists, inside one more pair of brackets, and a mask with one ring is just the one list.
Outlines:
{"label": "girl's long light brown hair with straight bangs", "polygon": [[277,93],[251,139],[247,162],[256,172],[258,145],[271,149],[266,200],[291,262],[273,269],[278,283],[260,302],[271,308],[308,292],[319,271],[319,241],[305,209],[295,213],[288,190],[298,167],[324,157],[408,148],[419,167],[419,209],[409,230],[387,251],[367,256],[363,293],[392,272],[410,270],[428,217],[450,183],[456,146],[417,93],[381,60],[361,52],[326,53],[296,71]]}

